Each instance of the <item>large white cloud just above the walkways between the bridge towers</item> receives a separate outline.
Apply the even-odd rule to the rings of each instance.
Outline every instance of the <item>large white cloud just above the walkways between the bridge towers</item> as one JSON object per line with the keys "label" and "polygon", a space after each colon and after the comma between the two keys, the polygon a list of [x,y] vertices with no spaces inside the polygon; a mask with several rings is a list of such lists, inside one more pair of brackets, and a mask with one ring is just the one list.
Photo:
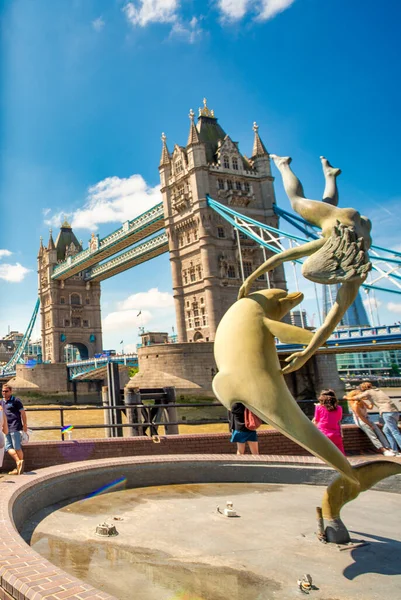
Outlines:
{"label": "large white cloud just above the walkways between the bridge towers", "polygon": [[141,175],[107,177],[88,190],[85,204],[73,213],[60,212],[45,221],[57,227],[68,218],[74,229],[96,230],[101,223],[123,223],[161,201],[159,186],[150,187]]}

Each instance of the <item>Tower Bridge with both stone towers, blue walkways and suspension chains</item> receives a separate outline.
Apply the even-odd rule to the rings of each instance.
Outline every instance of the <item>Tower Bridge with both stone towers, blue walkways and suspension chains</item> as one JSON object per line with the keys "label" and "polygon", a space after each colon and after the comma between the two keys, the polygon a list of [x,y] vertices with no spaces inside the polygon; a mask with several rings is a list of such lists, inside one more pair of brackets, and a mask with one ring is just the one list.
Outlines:
{"label": "Tower Bridge with both stone towers, blue walkways and suspension chains", "polygon": [[[46,246],[41,240],[38,273],[45,362],[65,362],[67,345],[78,348],[86,361],[99,353],[101,281],[167,252],[179,345],[213,342],[217,325],[236,300],[244,278],[272,254],[318,237],[316,228],[277,207],[270,156],[256,124],[248,158],[206,101],[197,122],[193,111],[189,119],[185,146],[175,144],[170,151],[162,135],[162,202],[101,239],[92,234],[85,249],[67,221],[55,241],[52,232]],[[279,229],[280,218],[297,233]],[[400,294],[401,254],[372,246],[370,256],[375,278],[365,283],[365,289]],[[260,278],[254,289],[266,286],[286,289],[282,266]],[[21,361],[29,336],[24,336],[6,372],[14,371]],[[395,331],[377,332],[375,343],[390,343],[388,336],[393,347],[401,347]],[[366,335],[361,337],[365,346],[371,344]],[[355,345],[350,335],[327,348],[344,351]]]}

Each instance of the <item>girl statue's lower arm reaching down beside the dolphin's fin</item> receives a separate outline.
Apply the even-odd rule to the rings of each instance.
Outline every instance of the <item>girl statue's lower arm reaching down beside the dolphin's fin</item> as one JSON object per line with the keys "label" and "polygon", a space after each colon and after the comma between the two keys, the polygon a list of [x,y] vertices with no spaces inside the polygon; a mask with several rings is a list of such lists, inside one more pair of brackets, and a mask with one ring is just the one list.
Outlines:
{"label": "girl statue's lower arm reaching down beside the dolphin's fin", "polygon": [[362,282],[363,279],[354,279],[341,285],[337,293],[336,301],[328,312],[323,325],[315,332],[305,350],[302,350],[302,352],[294,352],[294,354],[291,354],[291,356],[286,359],[286,362],[289,364],[283,369],[283,373],[291,373],[302,367],[316,350],[318,350],[320,346],[323,346],[347,312],[348,308],[354,302]]}

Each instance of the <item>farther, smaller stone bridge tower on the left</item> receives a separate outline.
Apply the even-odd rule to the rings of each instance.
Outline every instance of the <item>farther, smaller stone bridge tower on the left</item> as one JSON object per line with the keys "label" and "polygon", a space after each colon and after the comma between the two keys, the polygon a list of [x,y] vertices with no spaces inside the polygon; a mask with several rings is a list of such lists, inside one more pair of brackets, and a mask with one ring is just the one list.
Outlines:
{"label": "farther, smaller stone bridge tower on the left", "polygon": [[54,266],[82,250],[67,221],[53,240],[50,230],[47,248],[40,241],[38,254],[39,298],[44,361],[64,362],[64,349],[71,344],[81,358],[102,350],[100,283],[85,282],[83,273],[65,281],[52,280]]}

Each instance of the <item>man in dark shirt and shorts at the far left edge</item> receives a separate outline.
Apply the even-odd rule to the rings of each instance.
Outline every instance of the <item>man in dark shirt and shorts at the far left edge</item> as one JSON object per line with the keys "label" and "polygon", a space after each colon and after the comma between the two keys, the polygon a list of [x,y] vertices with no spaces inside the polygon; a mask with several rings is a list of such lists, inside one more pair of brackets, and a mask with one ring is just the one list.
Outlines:
{"label": "man in dark shirt and shorts at the far left edge", "polygon": [[12,395],[12,388],[8,384],[3,385],[2,395],[8,423],[5,449],[16,463],[16,468],[10,471],[9,475],[21,475],[24,472],[21,431],[28,429],[26,413],[21,400]]}

